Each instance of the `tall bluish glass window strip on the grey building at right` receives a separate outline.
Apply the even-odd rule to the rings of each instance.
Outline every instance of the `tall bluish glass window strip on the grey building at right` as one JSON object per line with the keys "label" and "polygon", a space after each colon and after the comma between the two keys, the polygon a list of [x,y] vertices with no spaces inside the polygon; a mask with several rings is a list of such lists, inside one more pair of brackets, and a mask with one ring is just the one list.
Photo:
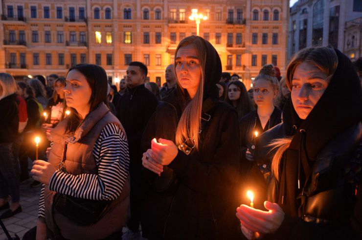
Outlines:
{"label": "tall bluish glass window strip on the grey building at right", "polygon": [[324,0],[318,0],[313,6],[312,45],[320,46],[323,41]]}

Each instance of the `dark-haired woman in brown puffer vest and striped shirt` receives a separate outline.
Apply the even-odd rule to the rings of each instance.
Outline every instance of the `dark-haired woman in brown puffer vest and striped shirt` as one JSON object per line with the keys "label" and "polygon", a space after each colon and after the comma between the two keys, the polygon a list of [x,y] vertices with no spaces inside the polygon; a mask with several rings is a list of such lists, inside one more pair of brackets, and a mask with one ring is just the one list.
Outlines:
{"label": "dark-haired woman in brown puffer vest and striped shirt", "polygon": [[64,92],[71,114],[51,132],[48,162],[36,160],[31,170],[45,184],[37,239],[122,236],[129,156],[123,127],[105,104],[107,86],[107,74],[98,65],[79,64],[68,71]]}

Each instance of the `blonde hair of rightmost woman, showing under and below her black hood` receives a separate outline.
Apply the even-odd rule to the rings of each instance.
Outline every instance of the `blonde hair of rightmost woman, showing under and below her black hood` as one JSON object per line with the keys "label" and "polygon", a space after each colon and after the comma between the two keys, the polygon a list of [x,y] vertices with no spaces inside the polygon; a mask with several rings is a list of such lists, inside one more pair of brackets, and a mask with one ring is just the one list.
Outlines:
{"label": "blonde hair of rightmost woman, showing under and below her black hood", "polygon": [[[317,66],[322,72],[331,78],[338,66],[338,57],[333,48],[311,47],[297,52],[287,66],[287,86],[292,91],[292,80],[296,67],[302,62],[309,62]],[[271,171],[276,180],[280,177],[280,160],[283,153],[289,148],[292,138],[275,139],[269,144],[272,149],[277,149],[271,161]]]}

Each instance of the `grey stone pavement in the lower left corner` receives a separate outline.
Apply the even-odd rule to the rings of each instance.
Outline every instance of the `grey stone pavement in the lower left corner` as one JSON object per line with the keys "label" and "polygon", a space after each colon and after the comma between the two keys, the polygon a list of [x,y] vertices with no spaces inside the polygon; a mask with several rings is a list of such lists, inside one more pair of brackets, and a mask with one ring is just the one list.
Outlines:
{"label": "grey stone pavement in the lower left corner", "polygon": [[[29,229],[36,226],[41,186],[29,187],[32,181],[32,179],[29,179],[22,182],[20,185],[20,205],[22,206],[23,212],[18,213],[11,218],[2,220],[11,237],[14,237],[15,234],[17,234],[20,239],[22,239],[23,235]],[[2,212],[0,212],[0,214],[1,213]],[[0,227],[0,240],[6,239],[5,233]]]}

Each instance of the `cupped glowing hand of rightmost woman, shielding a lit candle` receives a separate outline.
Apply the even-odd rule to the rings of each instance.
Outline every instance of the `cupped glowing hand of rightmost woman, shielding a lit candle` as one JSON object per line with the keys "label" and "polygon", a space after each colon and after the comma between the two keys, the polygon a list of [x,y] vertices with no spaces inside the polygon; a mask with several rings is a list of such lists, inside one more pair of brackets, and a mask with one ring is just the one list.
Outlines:
{"label": "cupped glowing hand of rightmost woman, shielding a lit candle", "polygon": [[241,205],[236,209],[236,217],[240,220],[241,225],[252,232],[274,233],[282,224],[285,214],[277,203],[265,201],[264,206],[269,211]]}

